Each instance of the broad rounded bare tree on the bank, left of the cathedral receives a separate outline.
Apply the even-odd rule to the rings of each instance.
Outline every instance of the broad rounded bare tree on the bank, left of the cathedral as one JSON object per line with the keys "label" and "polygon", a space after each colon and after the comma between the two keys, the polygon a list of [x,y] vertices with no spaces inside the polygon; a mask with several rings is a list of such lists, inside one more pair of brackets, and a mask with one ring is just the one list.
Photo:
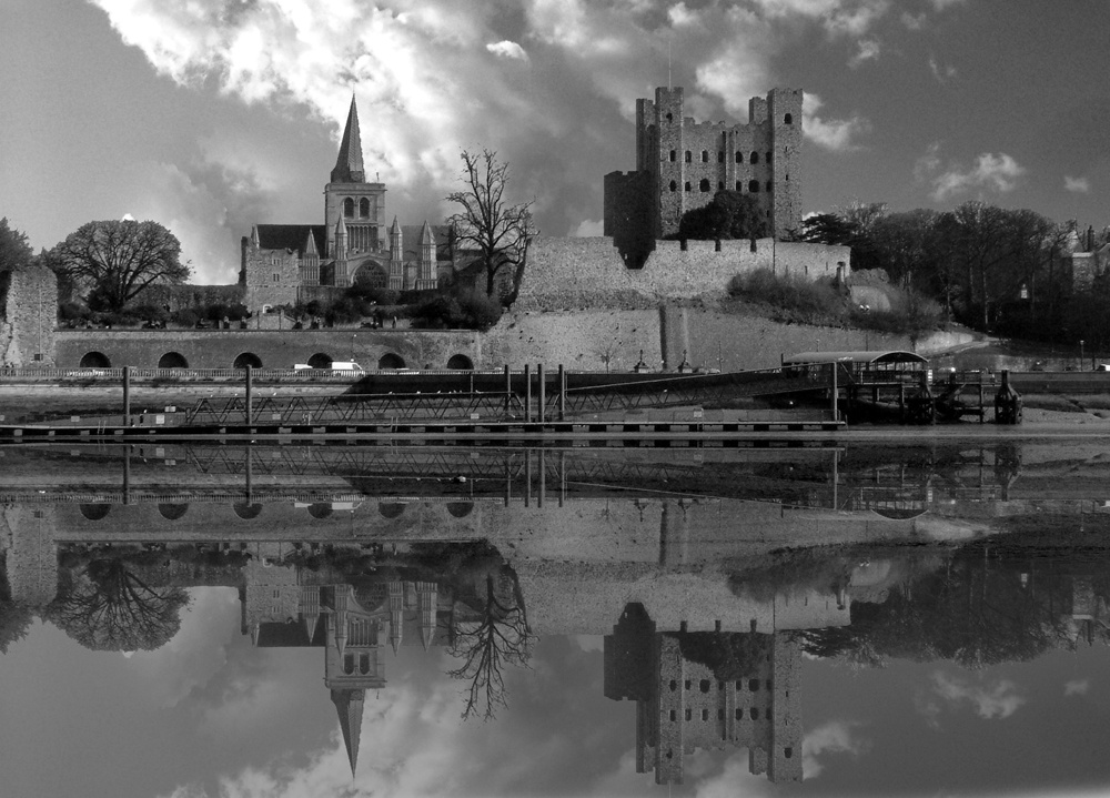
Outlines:
{"label": "broad rounded bare tree on the bank, left of the cathedral", "polygon": [[89,222],[50,251],[56,269],[88,285],[90,305],[120,312],[152,283],[183,283],[181,243],[158,222]]}

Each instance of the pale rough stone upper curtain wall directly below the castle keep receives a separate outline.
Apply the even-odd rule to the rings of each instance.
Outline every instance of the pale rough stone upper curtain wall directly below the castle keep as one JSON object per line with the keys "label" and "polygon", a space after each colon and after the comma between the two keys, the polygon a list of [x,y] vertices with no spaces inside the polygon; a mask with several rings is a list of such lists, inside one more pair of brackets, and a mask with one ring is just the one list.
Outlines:
{"label": "pale rough stone upper curtain wall directly below the castle keep", "polygon": [[760,239],[749,241],[657,241],[643,269],[625,265],[610,238],[536,239],[528,253],[516,307],[643,307],[668,300],[719,296],[737,274],[768,269],[807,280],[847,270],[851,251]]}

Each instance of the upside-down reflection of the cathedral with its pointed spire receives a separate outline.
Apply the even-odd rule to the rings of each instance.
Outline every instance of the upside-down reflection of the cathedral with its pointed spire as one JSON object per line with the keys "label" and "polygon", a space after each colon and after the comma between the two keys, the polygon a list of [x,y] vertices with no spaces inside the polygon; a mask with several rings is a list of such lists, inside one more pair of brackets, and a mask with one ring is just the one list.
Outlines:
{"label": "upside-down reflection of the cathedral with its pointed spire", "polygon": [[324,649],[324,684],[339,713],[353,775],[366,690],[385,686],[383,643],[396,653],[405,643],[418,642],[427,650],[440,642],[436,584],[311,584],[311,570],[271,566],[265,558],[249,560],[244,570],[243,632],[256,646]]}

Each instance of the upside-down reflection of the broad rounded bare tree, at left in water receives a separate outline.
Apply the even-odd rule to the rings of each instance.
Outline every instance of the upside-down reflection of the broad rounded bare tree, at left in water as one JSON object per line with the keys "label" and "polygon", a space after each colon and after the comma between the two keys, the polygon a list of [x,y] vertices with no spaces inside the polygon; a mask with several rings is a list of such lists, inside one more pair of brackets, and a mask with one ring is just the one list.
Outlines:
{"label": "upside-down reflection of the broad rounded bare tree, at left in water", "polygon": [[152,587],[123,559],[94,559],[73,574],[44,617],[85,648],[154,650],[176,634],[189,604],[180,587]]}

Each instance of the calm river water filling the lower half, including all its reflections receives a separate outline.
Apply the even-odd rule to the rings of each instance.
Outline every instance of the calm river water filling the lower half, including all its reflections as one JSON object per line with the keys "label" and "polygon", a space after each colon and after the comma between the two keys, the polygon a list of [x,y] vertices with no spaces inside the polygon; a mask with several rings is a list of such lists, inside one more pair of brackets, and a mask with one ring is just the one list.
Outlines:
{"label": "calm river water filling the lower half, including all its reflections", "polygon": [[1104,792],[1108,472],[0,447],[0,796]]}

